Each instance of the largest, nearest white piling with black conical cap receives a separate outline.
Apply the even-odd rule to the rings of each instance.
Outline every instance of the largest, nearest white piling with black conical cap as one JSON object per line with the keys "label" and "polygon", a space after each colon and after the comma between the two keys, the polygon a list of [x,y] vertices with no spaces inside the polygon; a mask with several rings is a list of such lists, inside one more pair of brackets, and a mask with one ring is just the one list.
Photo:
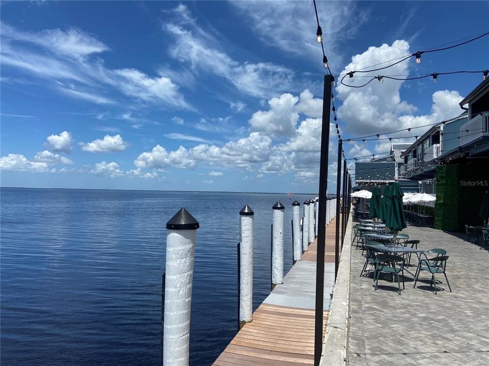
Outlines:
{"label": "largest, nearest white piling with black conical cap", "polygon": [[195,242],[199,223],[185,208],[167,223],[163,365],[188,366]]}

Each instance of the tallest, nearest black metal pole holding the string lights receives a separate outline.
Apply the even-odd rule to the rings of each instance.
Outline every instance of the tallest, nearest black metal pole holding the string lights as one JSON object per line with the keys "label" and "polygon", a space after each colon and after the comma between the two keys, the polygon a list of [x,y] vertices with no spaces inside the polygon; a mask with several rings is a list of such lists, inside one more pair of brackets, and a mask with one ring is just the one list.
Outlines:
{"label": "tallest, nearest black metal pole holding the string lights", "polygon": [[321,157],[319,160],[319,213],[316,253],[316,309],[314,317],[314,366],[319,366],[322,352],[324,308],[324,246],[326,243],[326,201],[328,189],[328,153],[330,148],[331,75],[324,75],[322,98]]}

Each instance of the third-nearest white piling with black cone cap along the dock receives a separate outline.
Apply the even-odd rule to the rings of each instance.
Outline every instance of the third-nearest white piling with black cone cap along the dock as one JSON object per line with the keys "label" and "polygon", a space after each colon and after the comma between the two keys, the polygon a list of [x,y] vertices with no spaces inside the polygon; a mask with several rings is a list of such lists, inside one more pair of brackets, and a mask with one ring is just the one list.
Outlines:
{"label": "third-nearest white piling with black cone cap along the dock", "polygon": [[272,207],[273,216],[273,234],[271,244],[271,289],[275,285],[284,282],[284,209],[282,203],[277,202]]}

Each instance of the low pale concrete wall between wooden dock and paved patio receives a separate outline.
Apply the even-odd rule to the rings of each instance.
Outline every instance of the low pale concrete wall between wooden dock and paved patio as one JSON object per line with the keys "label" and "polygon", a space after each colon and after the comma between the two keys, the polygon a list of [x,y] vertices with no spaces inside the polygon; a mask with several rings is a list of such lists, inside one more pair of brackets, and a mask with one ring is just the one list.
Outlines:
{"label": "low pale concrete wall between wooden dock and paved patio", "polygon": [[338,267],[338,277],[336,279],[333,303],[326,328],[325,344],[322,350],[320,365],[346,365],[352,216],[350,207],[350,217],[346,225],[345,239],[341,251],[340,265]]}

